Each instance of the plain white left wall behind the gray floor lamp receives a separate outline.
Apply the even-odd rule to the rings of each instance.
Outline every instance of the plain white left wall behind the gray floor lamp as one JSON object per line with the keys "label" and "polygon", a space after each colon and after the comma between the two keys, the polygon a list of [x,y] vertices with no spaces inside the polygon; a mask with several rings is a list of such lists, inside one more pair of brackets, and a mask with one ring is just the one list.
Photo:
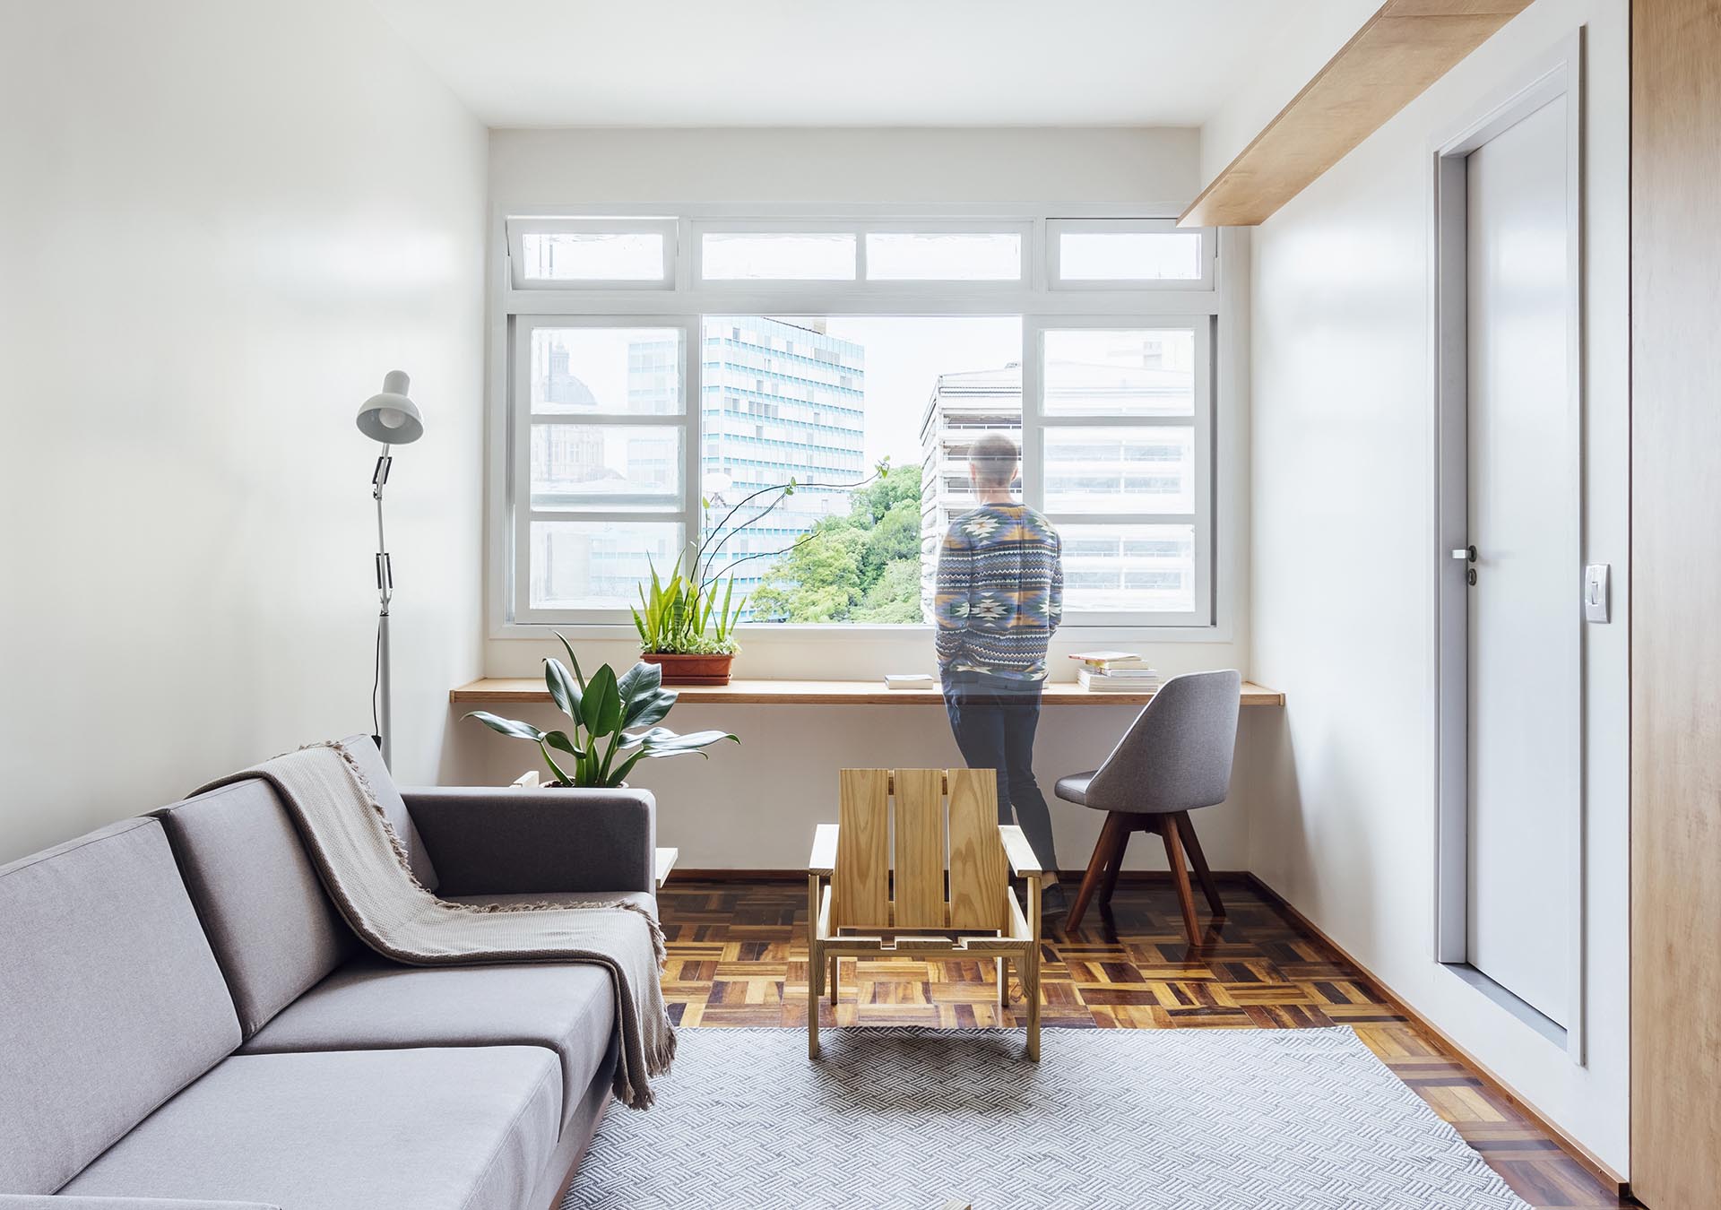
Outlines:
{"label": "plain white left wall behind the gray floor lamp", "polygon": [[396,764],[480,670],[484,129],[370,5],[5,3],[0,861],[370,730],[375,448]]}

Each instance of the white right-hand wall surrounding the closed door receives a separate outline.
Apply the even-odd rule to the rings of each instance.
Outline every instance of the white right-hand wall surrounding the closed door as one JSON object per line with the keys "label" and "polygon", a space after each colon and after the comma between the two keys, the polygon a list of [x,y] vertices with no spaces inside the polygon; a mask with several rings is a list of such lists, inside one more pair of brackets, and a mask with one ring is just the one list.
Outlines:
{"label": "white right-hand wall surrounding the closed door", "polygon": [[[1253,651],[1284,728],[1249,867],[1616,1170],[1626,1170],[1628,5],[1539,0],[1265,222],[1253,293]],[[1585,561],[1588,1064],[1434,960],[1432,148],[1588,34]],[[1563,921],[1525,921],[1564,943]]]}

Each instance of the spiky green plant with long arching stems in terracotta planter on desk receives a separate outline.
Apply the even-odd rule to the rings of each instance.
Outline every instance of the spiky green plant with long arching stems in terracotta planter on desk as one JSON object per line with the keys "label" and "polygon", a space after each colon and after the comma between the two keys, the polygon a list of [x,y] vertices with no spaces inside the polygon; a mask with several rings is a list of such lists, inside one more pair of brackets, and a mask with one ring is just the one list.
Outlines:
{"label": "spiky green plant with long arching stems in terracotta planter on desk", "polygon": [[[873,468],[873,475],[854,484],[805,484],[805,487],[864,487],[874,478],[890,473],[890,458],[883,458]],[[640,635],[640,659],[663,668],[664,685],[728,685],[730,668],[740,644],[735,642],[735,627],[747,609],[747,597],[735,601],[735,568],[742,563],[762,558],[776,558],[786,551],[761,551],[731,561],[723,571],[716,570],[718,554],[728,540],[740,530],[757,525],[761,520],[795,494],[799,480],[761,487],[743,496],[733,504],[723,520],[711,525],[711,497],[702,497],[700,509],[706,518],[704,537],[694,551],[694,563],[687,575],[682,573],[682,559],[675,561],[669,578],[657,575],[651,568],[651,583],[638,585],[640,604],[633,609],[633,628]],[[752,516],[740,525],[730,527],[737,513],[757,501],[761,496],[776,497],[759,506]],[[811,535],[788,546],[793,551],[807,542]],[[721,594],[719,594],[719,583]]]}

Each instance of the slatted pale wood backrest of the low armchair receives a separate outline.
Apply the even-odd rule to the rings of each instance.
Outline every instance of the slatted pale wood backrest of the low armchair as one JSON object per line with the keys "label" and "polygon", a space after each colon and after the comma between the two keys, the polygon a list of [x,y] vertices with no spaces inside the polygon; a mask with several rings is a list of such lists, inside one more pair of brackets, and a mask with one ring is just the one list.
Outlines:
{"label": "slatted pale wood backrest of the low armchair", "polygon": [[[897,804],[895,833],[891,799]],[[843,769],[836,819],[833,928],[1009,928],[1010,880],[998,837],[998,775],[993,769]]]}

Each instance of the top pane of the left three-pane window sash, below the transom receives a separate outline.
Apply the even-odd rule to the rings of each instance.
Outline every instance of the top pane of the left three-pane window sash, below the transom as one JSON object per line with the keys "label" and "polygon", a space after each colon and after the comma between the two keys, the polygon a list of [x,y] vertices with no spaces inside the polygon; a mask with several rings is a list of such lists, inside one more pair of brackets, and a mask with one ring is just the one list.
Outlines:
{"label": "top pane of the left three-pane window sash, below the transom", "polygon": [[671,415],[682,410],[682,329],[532,329],[532,411]]}

